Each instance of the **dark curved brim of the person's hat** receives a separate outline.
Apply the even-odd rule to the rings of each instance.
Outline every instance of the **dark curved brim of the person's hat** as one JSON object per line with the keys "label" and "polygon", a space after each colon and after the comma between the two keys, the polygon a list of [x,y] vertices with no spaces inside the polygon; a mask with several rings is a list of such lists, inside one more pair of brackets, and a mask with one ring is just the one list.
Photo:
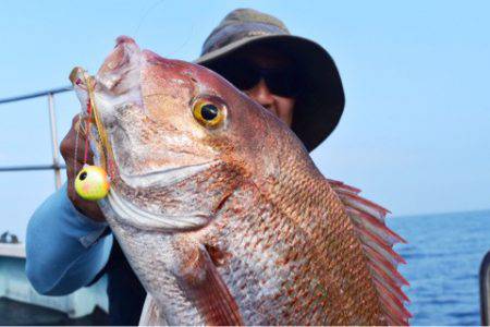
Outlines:
{"label": "dark curved brim of the person's hat", "polygon": [[240,39],[194,62],[204,66],[218,63],[252,46],[271,46],[292,58],[303,75],[303,93],[296,99],[291,129],[308,152],[314,150],[336,128],[345,106],[342,81],[330,55],[320,45],[293,35],[262,35]]}

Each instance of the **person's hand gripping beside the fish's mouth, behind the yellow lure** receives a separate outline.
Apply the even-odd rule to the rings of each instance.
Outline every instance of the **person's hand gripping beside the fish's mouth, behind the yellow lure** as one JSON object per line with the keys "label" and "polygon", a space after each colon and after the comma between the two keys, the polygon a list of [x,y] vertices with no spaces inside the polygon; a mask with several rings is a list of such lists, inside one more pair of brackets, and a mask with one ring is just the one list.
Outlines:
{"label": "person's hand gripping beside the fish's mouth, behind the yellow lure", "polygon": [[[105,221],[106,217],[103,217],[102,211],[99,208],[97,202],[86,201],[79,197],[79,195],[75,191],[75,178],[78,171],[84,166],[84,154],[85,154],[85,140],[86,134],[81,129],[81,123],[85,123],[85,121],[78,121],[78,114],[73,118],[72,128],[68,132],[66,136],[64,136],[63,141],[60,145],[61,155],[66,162],[66,177],[68,177],[68,196],[73,205],[85,216],[95,220],[95,221]],[[77,133],[77,130],[79,132]],[[78,134],[78,135],[77,135]],[[76,137],[78,136],[78,146],[75,149]],[[76,150],[76,154],[75,154]],[[88,165],[94,164],[94,154],[90,148],[88,148]]]}

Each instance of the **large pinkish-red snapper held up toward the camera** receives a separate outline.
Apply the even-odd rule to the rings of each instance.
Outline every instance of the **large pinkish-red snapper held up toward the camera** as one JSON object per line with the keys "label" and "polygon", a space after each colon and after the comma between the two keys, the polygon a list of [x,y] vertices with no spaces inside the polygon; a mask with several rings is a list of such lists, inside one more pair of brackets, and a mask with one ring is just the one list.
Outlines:
{"label": "large pinkish-red snapper held up toward the camera", "polygon": [[71,80],[111,179],[99,205],[148,292],[143,324],[408,324],[387,210],[224,78],[119,37]]}

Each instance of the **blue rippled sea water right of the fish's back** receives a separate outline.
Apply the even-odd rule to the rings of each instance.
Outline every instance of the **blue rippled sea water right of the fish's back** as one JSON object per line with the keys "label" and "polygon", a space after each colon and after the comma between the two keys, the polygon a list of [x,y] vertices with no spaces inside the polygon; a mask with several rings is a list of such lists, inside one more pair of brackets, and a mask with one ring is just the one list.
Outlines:
{"label": "blue rippled sea water right of the fish's back", "polygon": [[388,219],[411,286],[412,325],[480,325],[478,272],[490,251],[490,210]]}

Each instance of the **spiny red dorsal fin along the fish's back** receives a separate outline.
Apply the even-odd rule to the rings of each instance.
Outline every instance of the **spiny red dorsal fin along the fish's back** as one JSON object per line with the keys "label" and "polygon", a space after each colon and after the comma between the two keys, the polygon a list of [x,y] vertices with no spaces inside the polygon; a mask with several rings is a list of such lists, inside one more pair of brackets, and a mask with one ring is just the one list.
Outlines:
{"label": "spiny red dorsal fin along the fish's back", "polygon": [[392,249],[405,240],[384,223],[389,211],[360,197],[360,190],[334,180],[329,180],[329,184],[345,205],[359,235],[388,325],[408,325],[412,315],[404,302],[409,300],[402,290],[408,282],[396,269],[405,261]]}

